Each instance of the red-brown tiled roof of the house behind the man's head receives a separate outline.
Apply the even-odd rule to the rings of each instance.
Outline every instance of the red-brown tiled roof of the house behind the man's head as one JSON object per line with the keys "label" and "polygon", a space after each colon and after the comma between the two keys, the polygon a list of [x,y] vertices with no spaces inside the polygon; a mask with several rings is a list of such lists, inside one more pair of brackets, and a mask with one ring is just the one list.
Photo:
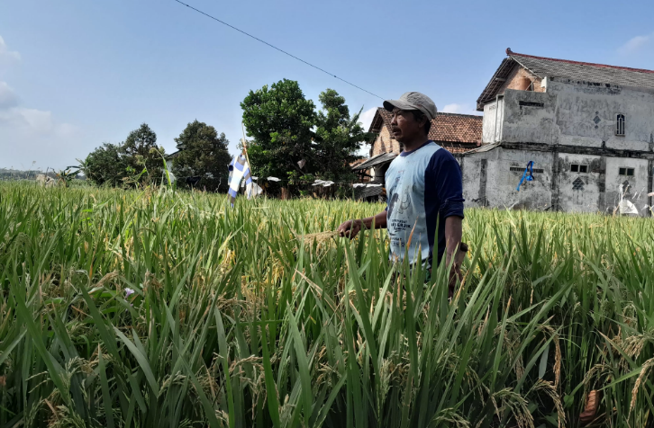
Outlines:
{"label": "red-brown tiled roof of the house behind the man's head", "polygon": [[[375,117],[370,123],[369,132],[378,133],[383,126],[391,129],[392,115],[383,107],[378,107]],[[458,113],[436,113],[436,118],[431,120],[429,138],[441,142],[450,143],[481,143],[481,128],[483,116],[474,114]],[[446,147],[447,145],[441,144]]]}

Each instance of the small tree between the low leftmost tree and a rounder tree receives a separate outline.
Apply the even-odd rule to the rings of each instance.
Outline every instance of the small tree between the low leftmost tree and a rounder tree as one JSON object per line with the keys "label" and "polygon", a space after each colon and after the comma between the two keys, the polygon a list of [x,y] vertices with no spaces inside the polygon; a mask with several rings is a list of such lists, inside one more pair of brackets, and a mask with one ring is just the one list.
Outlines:
{"label": "small tree between the low leftmost tree and a rounder tree", "polygon": [[142,123],[139,129],[134,129],[123,143],[123,154],[132,174],[141,174],[145,167],[150,181],[161,178],[165,153],[163,147],[157,147],[157,134],[147,123]]}

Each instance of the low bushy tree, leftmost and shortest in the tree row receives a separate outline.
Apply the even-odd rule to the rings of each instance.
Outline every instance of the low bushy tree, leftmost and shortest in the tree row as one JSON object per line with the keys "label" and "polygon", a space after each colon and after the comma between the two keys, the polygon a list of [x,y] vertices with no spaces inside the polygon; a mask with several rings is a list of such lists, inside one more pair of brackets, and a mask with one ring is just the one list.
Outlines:
{"label": "low bushy tree, leftmost and shortest in the tree row", "polygon": [[120,144],[104,143],[89,153],[81,165],[86,178],[97,185],[120,185],[127,176],[127,163]]}

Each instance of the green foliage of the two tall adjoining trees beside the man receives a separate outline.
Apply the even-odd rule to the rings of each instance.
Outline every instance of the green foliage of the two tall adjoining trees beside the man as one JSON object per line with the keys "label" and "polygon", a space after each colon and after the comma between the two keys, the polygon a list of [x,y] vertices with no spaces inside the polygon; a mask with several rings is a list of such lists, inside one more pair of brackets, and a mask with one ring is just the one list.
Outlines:
{"label": "green foliage of the two tall adjoining trees beside the man", "polygon": [[[359,113],[350,117],[345,98],[333,89],[320,94],[316,112],[297,82],[282,80],[243,100],[243,123],[254,138],[249,154],[254,175],[273,175],[297,187],[315,178],[348,182],[354,179],[350,162],[368,134]],[[304,166],[298,162],[304,160]]]}

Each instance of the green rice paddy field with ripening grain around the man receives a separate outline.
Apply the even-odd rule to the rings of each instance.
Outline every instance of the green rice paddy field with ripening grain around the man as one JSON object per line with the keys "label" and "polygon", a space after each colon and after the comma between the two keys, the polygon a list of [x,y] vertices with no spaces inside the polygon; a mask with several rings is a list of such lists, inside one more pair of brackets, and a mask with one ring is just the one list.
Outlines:
{"label": "green rice paddy field with ripening grain around the man", "polygon": [[651,218],[467,210],[450,302],[380,210],[0,183],[0,426],[654,426]]}

